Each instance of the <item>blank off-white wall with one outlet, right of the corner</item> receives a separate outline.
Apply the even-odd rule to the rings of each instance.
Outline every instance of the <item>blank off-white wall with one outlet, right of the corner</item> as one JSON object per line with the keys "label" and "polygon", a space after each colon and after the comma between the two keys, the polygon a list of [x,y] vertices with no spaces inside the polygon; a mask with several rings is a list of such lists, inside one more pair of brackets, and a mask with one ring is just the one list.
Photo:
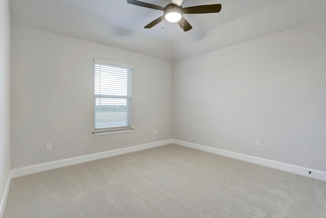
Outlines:
{"label": "blank off-white wall with one outlet, right of the corner", "polygon": [[173,138],[326,172],[325,63],[326,19],[178,61]]}

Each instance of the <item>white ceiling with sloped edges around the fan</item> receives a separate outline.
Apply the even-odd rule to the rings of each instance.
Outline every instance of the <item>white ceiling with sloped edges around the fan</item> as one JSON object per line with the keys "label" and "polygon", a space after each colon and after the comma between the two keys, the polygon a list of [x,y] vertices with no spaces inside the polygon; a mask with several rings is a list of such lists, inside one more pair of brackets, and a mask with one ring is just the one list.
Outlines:
{"label": "white ceiling with sloped edges around the fan", "polygon": [[[139,0],[165,7],[171,0]],[[220,13],[185,14],[182,32],[162,11],[127,0],[9,0],[11,21],[64,36],[176,61],[326,17],[325,0],[184,0],[182,7],[222,4]]]}

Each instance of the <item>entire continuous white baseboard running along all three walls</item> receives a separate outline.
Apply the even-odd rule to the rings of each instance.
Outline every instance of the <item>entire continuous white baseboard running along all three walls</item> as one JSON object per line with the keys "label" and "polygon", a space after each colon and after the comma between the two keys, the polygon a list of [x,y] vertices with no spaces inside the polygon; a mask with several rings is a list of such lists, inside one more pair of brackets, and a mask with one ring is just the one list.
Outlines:
{"label": "entire continuous white baseboard running along all three walls", "polygon": [[[2,201],[0,203],[0,217],[3,216],[9,189],[10,189],[11,179],[14,177],[25,176],[25,175],[29,175],[29,174],[33,174],[33,173],[47,171],[49,169],[69,166],[69,165],[78,164],[78,163],[84,163],[84,162],[88,162],[88,161],[92,161],[92,160],[98,160],[98,159],[102,159],[102,158],[106,158],[106,157],[112,157],[112,156],[116,156],[116,155],[141,151],[141,150],[150,149],[150,148],[155,148],[158,146],[164,146],[165,144],[171,144],[171,143],[178,144],[179,146],[184,146],[184,147],[188,147],[188,148],[192,148],[192,149],[196,149],[196,150],[201,150],[201,151],[205,151],[205,152],[209,152],[209,153],[213,153],[213,154],[230,157],[230,158],[235,158],[238,160],[256,163],[256,164],[260,164],[263,166],[281,169],[282,171],[287,171],[287,172],[295,173],[295,174],[302,175],[302,176],[314,177],[315,179],[326,181],[326,172],[317,171],[315,169],[310,169],[310,168],[306,168],[306,167],[302,167],[302,166],[295,166],[295,165],[291,165],[291,164],[287,164],[287,163],[281,163],[281,162],[277,162],[274,160],[268,160],[268,159],[254,157],[254,156],[250,156],[250,155],[244,155],[244,154],[230,152],[230,151],[226,151],[226,150],[222,150],[222,149],[201,146],[200,144],[194,144],[194,143],[189,143],[189,142],[175,140],[175,139],[168,139],[168,140],[157,141],[157,142],[152,142],[152,143],[147,143],[147,144],[141,144],[139,146],[133,146],[133,147],[123,148],[123,149],[117,149],[117,150],[112,150],[112,151],[106,151],[106,152],[101,152],[101,153],[96,153],[96,154],[90,154],[90,155],[85,155],[85,156],[80,156],[80,157],[74,157],[74,158],[69,158],[69,159],[64,159],[64,160],[58,160],[58,161],[13,169],[9,174],[8,181],[7,181],[7,184],[5,187],[5,191],[4,191],[4,195],[3,195]],[[309,175],[309,171],[312,172],[312,175],[311,174]]]}

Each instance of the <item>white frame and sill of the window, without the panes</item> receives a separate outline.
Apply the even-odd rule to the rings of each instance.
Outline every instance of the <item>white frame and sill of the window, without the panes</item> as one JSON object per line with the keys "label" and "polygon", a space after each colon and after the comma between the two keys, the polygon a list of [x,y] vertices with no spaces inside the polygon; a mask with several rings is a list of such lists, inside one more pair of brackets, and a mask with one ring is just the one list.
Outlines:
{"label": "white frame and sill of the window, without the panes", "polygon": [[[127,101],[127,116],[128,114],[130,115],[130,119],[127,120],[130,121],[130,125],[129,122],[127,122],[128,126],[119,126],[119,127],[103,127],[103,128],[96,128],[96,98],[99,98],[99,95],[96,94],[95,92],[95,76],[96,76],[96,64],[102,64],[102,65],[108,65],[108,66],[112,66],[112,67],[117,67],[117,68],[123,68],[126,69],[128,68],[128,70],[130,70],[130,72],[128,72],[128,78],[127,78],[127,95],[126,96],[115,96],[115,95],[105,95],[103,99],[107,98],[107,99],[126,99]],[[93,134],[95,136],[99,136],[99,135],[108,135],[108,134],[117,134],[117,133],[126,133],[126,132],[131,132],[133,130],[133,126],[132,126],[132,70],[134,69],[133,65],[129,65],[129,64],[122,64],[122,63],[117,63],[117,62],[111,62],[111,61],[104,61],[104,60],[99,60],[99,59],[94,59],[94,131]],[[130,77],[130,78],[129,78]],[[130,92],[130,93],[129,93]],[[119,98],[120,97],[120,98]],[[130,104],[130,107],[128,107],[128,104]]]}

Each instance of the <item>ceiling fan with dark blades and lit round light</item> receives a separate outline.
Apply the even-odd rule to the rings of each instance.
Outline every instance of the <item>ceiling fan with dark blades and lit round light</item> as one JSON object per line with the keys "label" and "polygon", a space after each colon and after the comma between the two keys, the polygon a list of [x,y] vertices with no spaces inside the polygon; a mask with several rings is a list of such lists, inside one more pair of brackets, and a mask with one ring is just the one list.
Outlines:
{"label": "ceiling fan with dark blades and lit round light", "polygon": [[163,11],[163,16],[160,16],[157,19],[153,20],[152,22],[148,23],[148,25],[144,27],[146,29],[152,28],[155,25],[157,25],[157,23],[166,19],[169,22],[178,22],[178,25],[181,27],[182,31],[186,32],[188,30],[191,30],[193,27],[183,17],[183,14],[218,13],[222,9],[221,4],[200,5],[200,6],[182,8],[181,6],[182,2],[183,0],[172,0],[172,3],[168,4],[166,7],[161,7],[145,2],[136,1],[136,0],[127,0],[127,3],[131,5],[138,5],[145,8],[152,8],[152,9]]}

